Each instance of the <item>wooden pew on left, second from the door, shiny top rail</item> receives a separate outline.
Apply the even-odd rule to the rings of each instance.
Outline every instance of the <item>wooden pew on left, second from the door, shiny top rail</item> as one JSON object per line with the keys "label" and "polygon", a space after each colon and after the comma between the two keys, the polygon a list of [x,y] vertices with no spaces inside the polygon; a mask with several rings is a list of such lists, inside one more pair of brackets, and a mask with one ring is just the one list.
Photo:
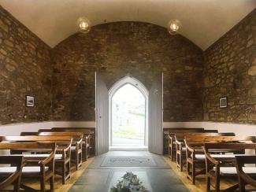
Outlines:
{"label": "wooden pew on left, second from the door, shiny top rail", "polygon": [[72,158],[76,164],[76,170],[78,170],[83,163],[83,132],[39,132],[40,136],[71,136],[73,138],[71,146],[71,153],[75,156]]}

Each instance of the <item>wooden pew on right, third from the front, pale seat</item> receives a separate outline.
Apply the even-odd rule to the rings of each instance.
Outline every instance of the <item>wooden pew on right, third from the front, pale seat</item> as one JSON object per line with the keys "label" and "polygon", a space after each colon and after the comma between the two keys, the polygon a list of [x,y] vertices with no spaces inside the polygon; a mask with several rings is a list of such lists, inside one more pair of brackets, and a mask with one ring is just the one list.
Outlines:
{"label": "wooden pew on right, third from the front, pale seat", "polygon": [[[215,136],[215,137],[210,137]],[[235,136],[234,133],[205,133],[205,134],[186,134],[184,135],[184,143],[186,146],[186,159],[187,159],[187,178],[191,179],[192,184],[195,185],[195,177],[206,173],[205,168],[205,155],[202,149],[204,143],[207,142],[223,142],[223,137],[218,136]],[[211,141],[210,139],[213,139]],[[200,140],[201,139],[201,140]],[[234,151],[231,151],[234,152]],[[196,168],[200,167],[201,170],[196,172]]]}

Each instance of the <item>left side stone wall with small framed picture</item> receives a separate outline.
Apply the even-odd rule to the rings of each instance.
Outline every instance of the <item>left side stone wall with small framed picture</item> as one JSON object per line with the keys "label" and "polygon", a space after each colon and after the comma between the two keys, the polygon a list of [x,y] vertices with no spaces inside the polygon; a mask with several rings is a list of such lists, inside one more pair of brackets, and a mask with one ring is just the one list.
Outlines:
{"label": "left side stone wall with small framed picture", "polygon": [[50,66],[50,47],[0,6],[0,124],[50,120]]}

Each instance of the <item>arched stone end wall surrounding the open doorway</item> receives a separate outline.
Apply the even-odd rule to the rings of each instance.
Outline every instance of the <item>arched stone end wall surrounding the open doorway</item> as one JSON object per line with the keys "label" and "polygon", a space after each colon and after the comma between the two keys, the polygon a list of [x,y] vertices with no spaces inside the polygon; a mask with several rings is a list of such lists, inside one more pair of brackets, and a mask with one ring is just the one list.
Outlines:
{"label": "arched stone end wall surrounding the open doorway", "polygon": [[203,56],[165,28],[137,22],[101,24],[53,50],[54,120],[95,120],[95,71],[111,87],[128,74],[147,88],[164,72],[164,120],[202,120]]}

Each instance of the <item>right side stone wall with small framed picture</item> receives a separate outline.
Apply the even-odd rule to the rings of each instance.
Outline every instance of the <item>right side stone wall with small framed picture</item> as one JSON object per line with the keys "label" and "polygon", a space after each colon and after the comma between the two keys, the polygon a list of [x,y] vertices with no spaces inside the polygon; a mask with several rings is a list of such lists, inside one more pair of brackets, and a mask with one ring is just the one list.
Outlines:
{"label": "right side stone wall with small framed picture", "polygon": [[256,124],[256,9],[205,51],[204,86],[204,120]]}

